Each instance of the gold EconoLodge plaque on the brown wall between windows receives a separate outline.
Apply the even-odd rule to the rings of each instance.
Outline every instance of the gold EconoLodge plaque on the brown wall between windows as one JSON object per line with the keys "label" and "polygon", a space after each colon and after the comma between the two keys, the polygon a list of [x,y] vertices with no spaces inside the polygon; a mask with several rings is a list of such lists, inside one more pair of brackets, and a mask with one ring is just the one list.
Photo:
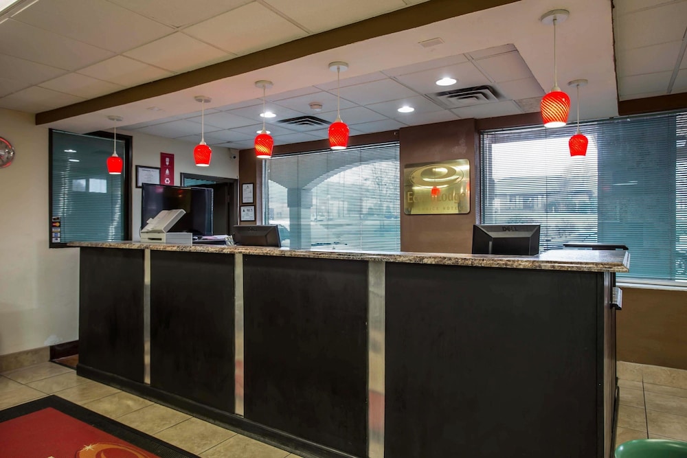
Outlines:
{"label": "gold EconoLodge plaque on the brown wall between windows", "polygon": [[403,208],[407,215],[470,213],[470,161],[405,165]]}

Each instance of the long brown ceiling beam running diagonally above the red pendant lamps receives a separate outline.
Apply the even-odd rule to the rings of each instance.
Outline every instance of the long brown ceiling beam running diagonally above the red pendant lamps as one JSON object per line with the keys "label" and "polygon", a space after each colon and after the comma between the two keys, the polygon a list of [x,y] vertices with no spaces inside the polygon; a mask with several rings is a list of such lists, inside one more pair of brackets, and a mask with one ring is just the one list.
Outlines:
{"label": "long brown ceiling beam running diagonally above the red pendant lamps", "polygon": [[334,49],[351,43],[376,38],[431,24],[472,12],[488,10],[519,0],[429,0],[365,21],[344,25],[333,30],[299,38],[246,56],[218,62],[207,67],[122,89],[76,104],[36,113],[36,125],[47,124],[78,115],[93,113],[159,95],[196,87],[200,84],[229,78],[249,71]]}

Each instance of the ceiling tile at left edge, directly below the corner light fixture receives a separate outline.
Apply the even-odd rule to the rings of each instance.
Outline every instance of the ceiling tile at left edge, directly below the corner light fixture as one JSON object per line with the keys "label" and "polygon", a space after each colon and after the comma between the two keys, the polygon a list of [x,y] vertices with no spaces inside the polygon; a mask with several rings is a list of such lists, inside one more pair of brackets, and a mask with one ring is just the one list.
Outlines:
{"label": "ceiling tile at left edge, directly below the corner light fixture", "polygon": [[110,51],[12,19],[0,26],[0,54],[66,70],[80,69],[113,56]]}

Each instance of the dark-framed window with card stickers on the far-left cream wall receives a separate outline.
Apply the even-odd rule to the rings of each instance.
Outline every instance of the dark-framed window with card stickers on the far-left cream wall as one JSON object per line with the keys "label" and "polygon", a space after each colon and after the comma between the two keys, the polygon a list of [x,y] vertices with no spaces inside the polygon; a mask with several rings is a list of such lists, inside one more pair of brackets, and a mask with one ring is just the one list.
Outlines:
{"label": "dark-framed window with card stickers on the far-left cream wall", "polygon": [[50,130],[50,247],[67,242],[131,239],[128,179],[131,137],[117,135],[124,173],[107,173],[109,133],[78,135]]}

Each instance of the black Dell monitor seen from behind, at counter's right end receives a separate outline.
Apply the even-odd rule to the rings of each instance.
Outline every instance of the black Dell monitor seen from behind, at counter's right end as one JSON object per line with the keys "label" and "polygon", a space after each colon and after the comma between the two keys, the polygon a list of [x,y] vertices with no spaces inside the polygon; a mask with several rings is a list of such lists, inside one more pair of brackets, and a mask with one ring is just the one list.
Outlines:
{"label": "black Dell monitor seen from behind, at counter's right end", "polygon": [[473,255],[537,255],[539,225],[474,225]]}

